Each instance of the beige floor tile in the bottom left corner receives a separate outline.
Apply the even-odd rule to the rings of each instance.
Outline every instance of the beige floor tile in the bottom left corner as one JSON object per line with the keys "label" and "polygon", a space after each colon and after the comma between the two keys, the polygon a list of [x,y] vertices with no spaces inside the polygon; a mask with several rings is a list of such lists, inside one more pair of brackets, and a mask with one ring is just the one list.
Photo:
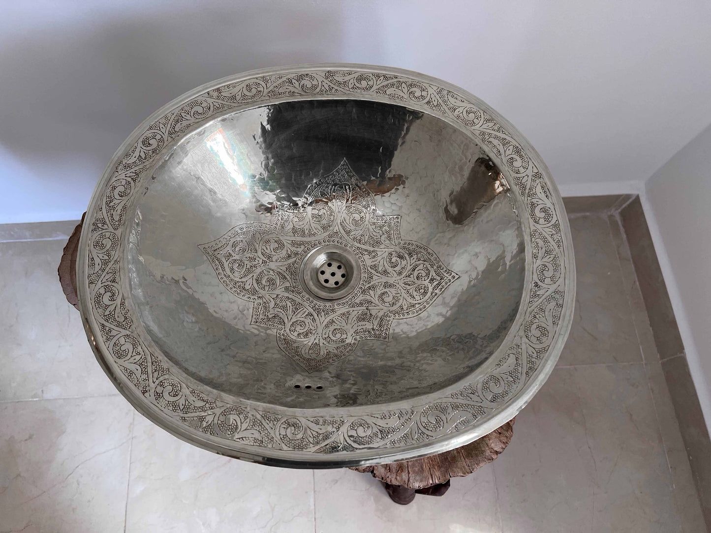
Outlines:
{"label": "beige floor tile in the bottom left corner", "polygon": [[0,531],[123,531],[133,409],[122,397],[6,402],[0,421]]}

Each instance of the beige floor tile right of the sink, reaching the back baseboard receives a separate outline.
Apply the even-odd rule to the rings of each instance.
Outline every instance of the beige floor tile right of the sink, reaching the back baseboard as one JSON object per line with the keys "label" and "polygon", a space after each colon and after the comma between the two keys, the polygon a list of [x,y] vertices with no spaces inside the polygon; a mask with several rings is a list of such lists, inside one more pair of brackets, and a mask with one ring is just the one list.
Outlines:
{"label": "beige floor tile right of the sink, reaching the back baseboard", "polygon": [[606,218],[570,219],[577,268],[572,328],[558,365],[642,360],[610,227]]}

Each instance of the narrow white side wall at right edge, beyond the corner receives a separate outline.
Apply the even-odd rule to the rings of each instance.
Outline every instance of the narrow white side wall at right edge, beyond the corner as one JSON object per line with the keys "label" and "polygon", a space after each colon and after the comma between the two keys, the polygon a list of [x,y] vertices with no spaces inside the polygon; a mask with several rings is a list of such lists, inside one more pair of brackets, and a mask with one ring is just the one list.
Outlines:
{"label": "narrow white side wall at right edge, beyond the corner", "polygon": [[711,426],[711,126],[646,183],[645,211]]}

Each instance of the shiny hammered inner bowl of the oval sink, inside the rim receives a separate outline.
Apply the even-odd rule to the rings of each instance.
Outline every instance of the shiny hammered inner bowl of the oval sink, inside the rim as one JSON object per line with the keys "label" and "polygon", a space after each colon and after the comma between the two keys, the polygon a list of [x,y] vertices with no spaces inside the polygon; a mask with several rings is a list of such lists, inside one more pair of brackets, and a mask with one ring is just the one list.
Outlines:
{"label": "shiny hammered inner bowl of the oval sink, inside the rim", "polygon": [[[166,149],[135,209],[141,327],[188,384],[228,398],[324,409],[438,392],[493,356],[523,294],[500,169],[471,134],[398,105],[230,112]],[[312,298],[304,257],[341,241],[358,279]]]}

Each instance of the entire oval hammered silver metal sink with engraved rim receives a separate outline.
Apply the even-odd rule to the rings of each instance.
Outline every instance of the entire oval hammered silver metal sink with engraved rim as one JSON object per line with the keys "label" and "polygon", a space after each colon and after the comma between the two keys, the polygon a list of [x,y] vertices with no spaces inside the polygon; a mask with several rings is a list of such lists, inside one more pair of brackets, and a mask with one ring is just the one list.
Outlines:
{"label": "entire oval hammered silver metal sink with engraved rim", "polygon": [[567,218],[486,104],[305,65],[176,99],[82,230],[80,309],[124,396],[184,440],[308,468],[461,446],[523,408],[570,328]]}

